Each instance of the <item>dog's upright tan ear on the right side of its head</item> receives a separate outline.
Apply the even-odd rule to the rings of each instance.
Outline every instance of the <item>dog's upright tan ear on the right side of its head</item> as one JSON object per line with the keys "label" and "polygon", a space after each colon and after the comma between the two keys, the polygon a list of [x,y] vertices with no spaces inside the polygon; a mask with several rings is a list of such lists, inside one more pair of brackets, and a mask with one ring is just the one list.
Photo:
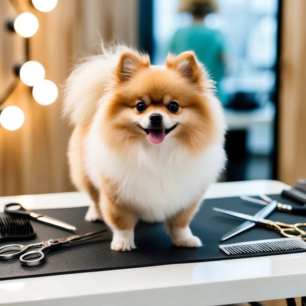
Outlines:
{"label": "dog's upright tan ear on the right side of its head", "polygon": [[177,57],[168,54],[166,67],[178,70],[182,76],[192,83],[200,81],[203,70],[203,65],[198,62],[196,55],[192,51],[185,51],[177,55]]}

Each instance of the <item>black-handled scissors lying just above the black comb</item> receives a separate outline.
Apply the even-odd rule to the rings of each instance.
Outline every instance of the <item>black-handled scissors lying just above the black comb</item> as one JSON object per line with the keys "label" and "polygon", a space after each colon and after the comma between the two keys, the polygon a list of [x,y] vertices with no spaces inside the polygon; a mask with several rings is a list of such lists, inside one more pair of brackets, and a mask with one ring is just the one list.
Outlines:
{"label": "black-handled scissors lying just above the black comb", "polygon": [[39,222],[46,223],[48,225],[52,225],[52,226],[62,228],[64,230],[70,230],[70,231],[76,230],[76,227],[71,225],[71,224],[68,224],[66,222],[48,217],[48,216],[43,215],[43,214],[36,214],[35,212],[32,212],[32,211],[29,211],[29,210],[25,209],[19,203],[6,204],[4,206],[4,212],[6,214],[9,214],[9,215],[17,215],[17,216],[23,216],[23,217],[31,218],[31,219],[37,220]]}

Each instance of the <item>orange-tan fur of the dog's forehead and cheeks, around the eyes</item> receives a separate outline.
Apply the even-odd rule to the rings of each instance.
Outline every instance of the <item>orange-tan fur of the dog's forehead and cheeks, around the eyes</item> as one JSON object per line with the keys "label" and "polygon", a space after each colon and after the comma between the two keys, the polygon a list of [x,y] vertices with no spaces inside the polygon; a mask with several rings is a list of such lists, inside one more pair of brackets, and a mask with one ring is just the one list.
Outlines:
{"label": "orange-tan fur of the dog's forehead and cheeks, around the eyes", "polygon": [[[113,88],[110,88],[110,91],[116,92],[116,96],[111,101],[104,118],[101,118],[101,135],[110,146],[120,150],[122,146],[129,147],[132,142],[142,139],[143,130],[136,124],[130,125],[129,129],[126,128],[129,117],[145,116],[152,113],[152,109],[157,113],[159,109],[165,110],[165,98],[168,96],[178,100],[180,104],[179,111],[176,114],[170,114],[170,117],[174,121],[179,116],[190,118],[188,129],[181,125],[176,128],[178,131],[176,137],[182,145],[189,148],[190,154],[199,154],[213,140],[214,129],[218,123],[211,116],[209,105],[203,103],[203,92],[208,90],[211,84],[204,83],[203,87],[202,79],[198,75],[200,69],[194,68],[196,75],[194,81],[181,76],[179,63],[183,61],[183,58],[187,61],[192,57],[192,53],[185,53],[187,53],[186,56],[181,54],[178,57],[178,62],[169,60],[168,69],[149,70],[146,69],[145,64],[139,64],[140,70],[137,70],[137,74],[129,82],[122,82],[121,77],[118,76],[117,82]],[[146,60],[145,58],[144,61]],[[141,59],[139,61],[141,62]],[[195,60],[192,63],[196,65]],[[207,96],[207,100],[210,98]],[[135,101],[139,100],[144,100],[148,105],[141,114],[135,109]]]}

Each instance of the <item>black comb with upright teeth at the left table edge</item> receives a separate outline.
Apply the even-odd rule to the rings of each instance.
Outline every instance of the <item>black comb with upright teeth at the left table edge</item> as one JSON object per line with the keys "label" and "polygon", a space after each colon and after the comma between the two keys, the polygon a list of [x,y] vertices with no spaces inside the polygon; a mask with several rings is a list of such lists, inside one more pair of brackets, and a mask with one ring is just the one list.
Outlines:
{"label": "black comb with upright teeth at the left table edge", "polygon": [[0,242],[34,238],[35,230],[23,217],[0,217]]}

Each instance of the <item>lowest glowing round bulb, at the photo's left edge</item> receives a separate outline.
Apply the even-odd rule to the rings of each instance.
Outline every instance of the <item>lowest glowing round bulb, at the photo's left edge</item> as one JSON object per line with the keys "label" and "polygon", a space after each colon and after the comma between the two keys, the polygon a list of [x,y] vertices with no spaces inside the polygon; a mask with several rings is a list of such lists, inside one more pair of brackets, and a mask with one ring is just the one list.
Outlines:
{"label": "lowest glowing round bulb, at the photo's left edge", "polygon": [[18,106],[7,106],[0,114],[1,125],[9,130],[17,130],[24,123],[24,113]]}

